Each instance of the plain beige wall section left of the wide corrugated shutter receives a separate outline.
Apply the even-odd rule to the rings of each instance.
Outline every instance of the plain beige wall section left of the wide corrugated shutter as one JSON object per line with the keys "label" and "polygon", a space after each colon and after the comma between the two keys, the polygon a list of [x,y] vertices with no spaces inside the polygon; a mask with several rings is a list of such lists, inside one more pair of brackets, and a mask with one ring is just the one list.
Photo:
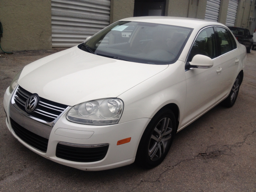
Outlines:
{"label": "plain beige wall section left of the wide corrugated shutter", "polygon": [[52,48],[51,0],[0,0],[0,22],[4,51]]}

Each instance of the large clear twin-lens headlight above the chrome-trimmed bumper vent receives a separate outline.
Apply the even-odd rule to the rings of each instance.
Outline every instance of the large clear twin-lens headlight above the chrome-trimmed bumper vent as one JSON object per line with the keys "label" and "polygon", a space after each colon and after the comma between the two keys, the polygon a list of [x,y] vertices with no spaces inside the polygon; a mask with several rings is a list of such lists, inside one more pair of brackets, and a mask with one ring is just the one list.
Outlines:
{"label": "large clear twin-lens headlight above the chrome-trimmed bumper vent", "polygon": [[87,101],[70,109],[67,119],[88,125],[117,124],[124,109],[122,100],[107,98]]}

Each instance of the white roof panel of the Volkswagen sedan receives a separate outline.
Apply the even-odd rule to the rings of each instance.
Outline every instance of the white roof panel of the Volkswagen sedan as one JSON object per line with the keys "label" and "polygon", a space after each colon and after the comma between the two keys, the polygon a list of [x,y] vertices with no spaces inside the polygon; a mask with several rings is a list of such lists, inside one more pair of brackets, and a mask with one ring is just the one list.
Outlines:
{"label": "white roof panel of the Volkswagen sedan", "polygon": [[184,18],[184,17],[168,17],[168,16],[144,16],[144,17],[131,17],[122,19],[121,21],[136,21],[136,22],[148,22],[148,23],[158,23],[158,24],[167,24],[188,28],[202,28],[204,26],[224,26],[224,24],[218,22],[212,22],[202,19],[194,18]]}

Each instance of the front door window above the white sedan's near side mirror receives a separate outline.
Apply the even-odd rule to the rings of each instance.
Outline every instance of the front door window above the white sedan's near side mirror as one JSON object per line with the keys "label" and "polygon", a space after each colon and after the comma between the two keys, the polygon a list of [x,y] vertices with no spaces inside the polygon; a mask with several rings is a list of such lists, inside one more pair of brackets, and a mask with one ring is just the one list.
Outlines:
{"label": "front door window above the white sedan's near side mirror", "polygon": [[214,30],[212,27],[202,30],[192,46],[188,61],[191,61],[197,54],[205,55],[212,59],[215,58],[217,54],[214,37]]}

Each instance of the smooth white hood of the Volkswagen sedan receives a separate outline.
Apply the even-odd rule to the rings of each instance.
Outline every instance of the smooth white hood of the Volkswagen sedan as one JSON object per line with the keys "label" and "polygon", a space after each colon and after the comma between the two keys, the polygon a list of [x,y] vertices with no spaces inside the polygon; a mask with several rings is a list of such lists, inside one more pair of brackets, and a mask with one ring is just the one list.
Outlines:
{"label": "smooth white hood of the Volkswagen sedan", "polygon": [[25,66],[18,84],[42,98],[74,106],[117,97],[167,67],[106,58],[76,46]]}

